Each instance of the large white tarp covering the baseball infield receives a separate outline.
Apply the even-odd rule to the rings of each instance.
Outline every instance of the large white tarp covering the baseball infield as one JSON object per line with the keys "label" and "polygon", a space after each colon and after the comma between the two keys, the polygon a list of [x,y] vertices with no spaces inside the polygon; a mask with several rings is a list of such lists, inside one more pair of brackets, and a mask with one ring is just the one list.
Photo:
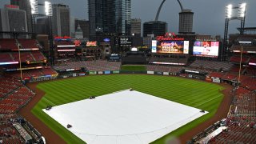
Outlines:
{"label": "large white tarp covering the baseball infield", "polygon": [[135,90],[43,111],[88,144],[150,143],[208,113]]}

